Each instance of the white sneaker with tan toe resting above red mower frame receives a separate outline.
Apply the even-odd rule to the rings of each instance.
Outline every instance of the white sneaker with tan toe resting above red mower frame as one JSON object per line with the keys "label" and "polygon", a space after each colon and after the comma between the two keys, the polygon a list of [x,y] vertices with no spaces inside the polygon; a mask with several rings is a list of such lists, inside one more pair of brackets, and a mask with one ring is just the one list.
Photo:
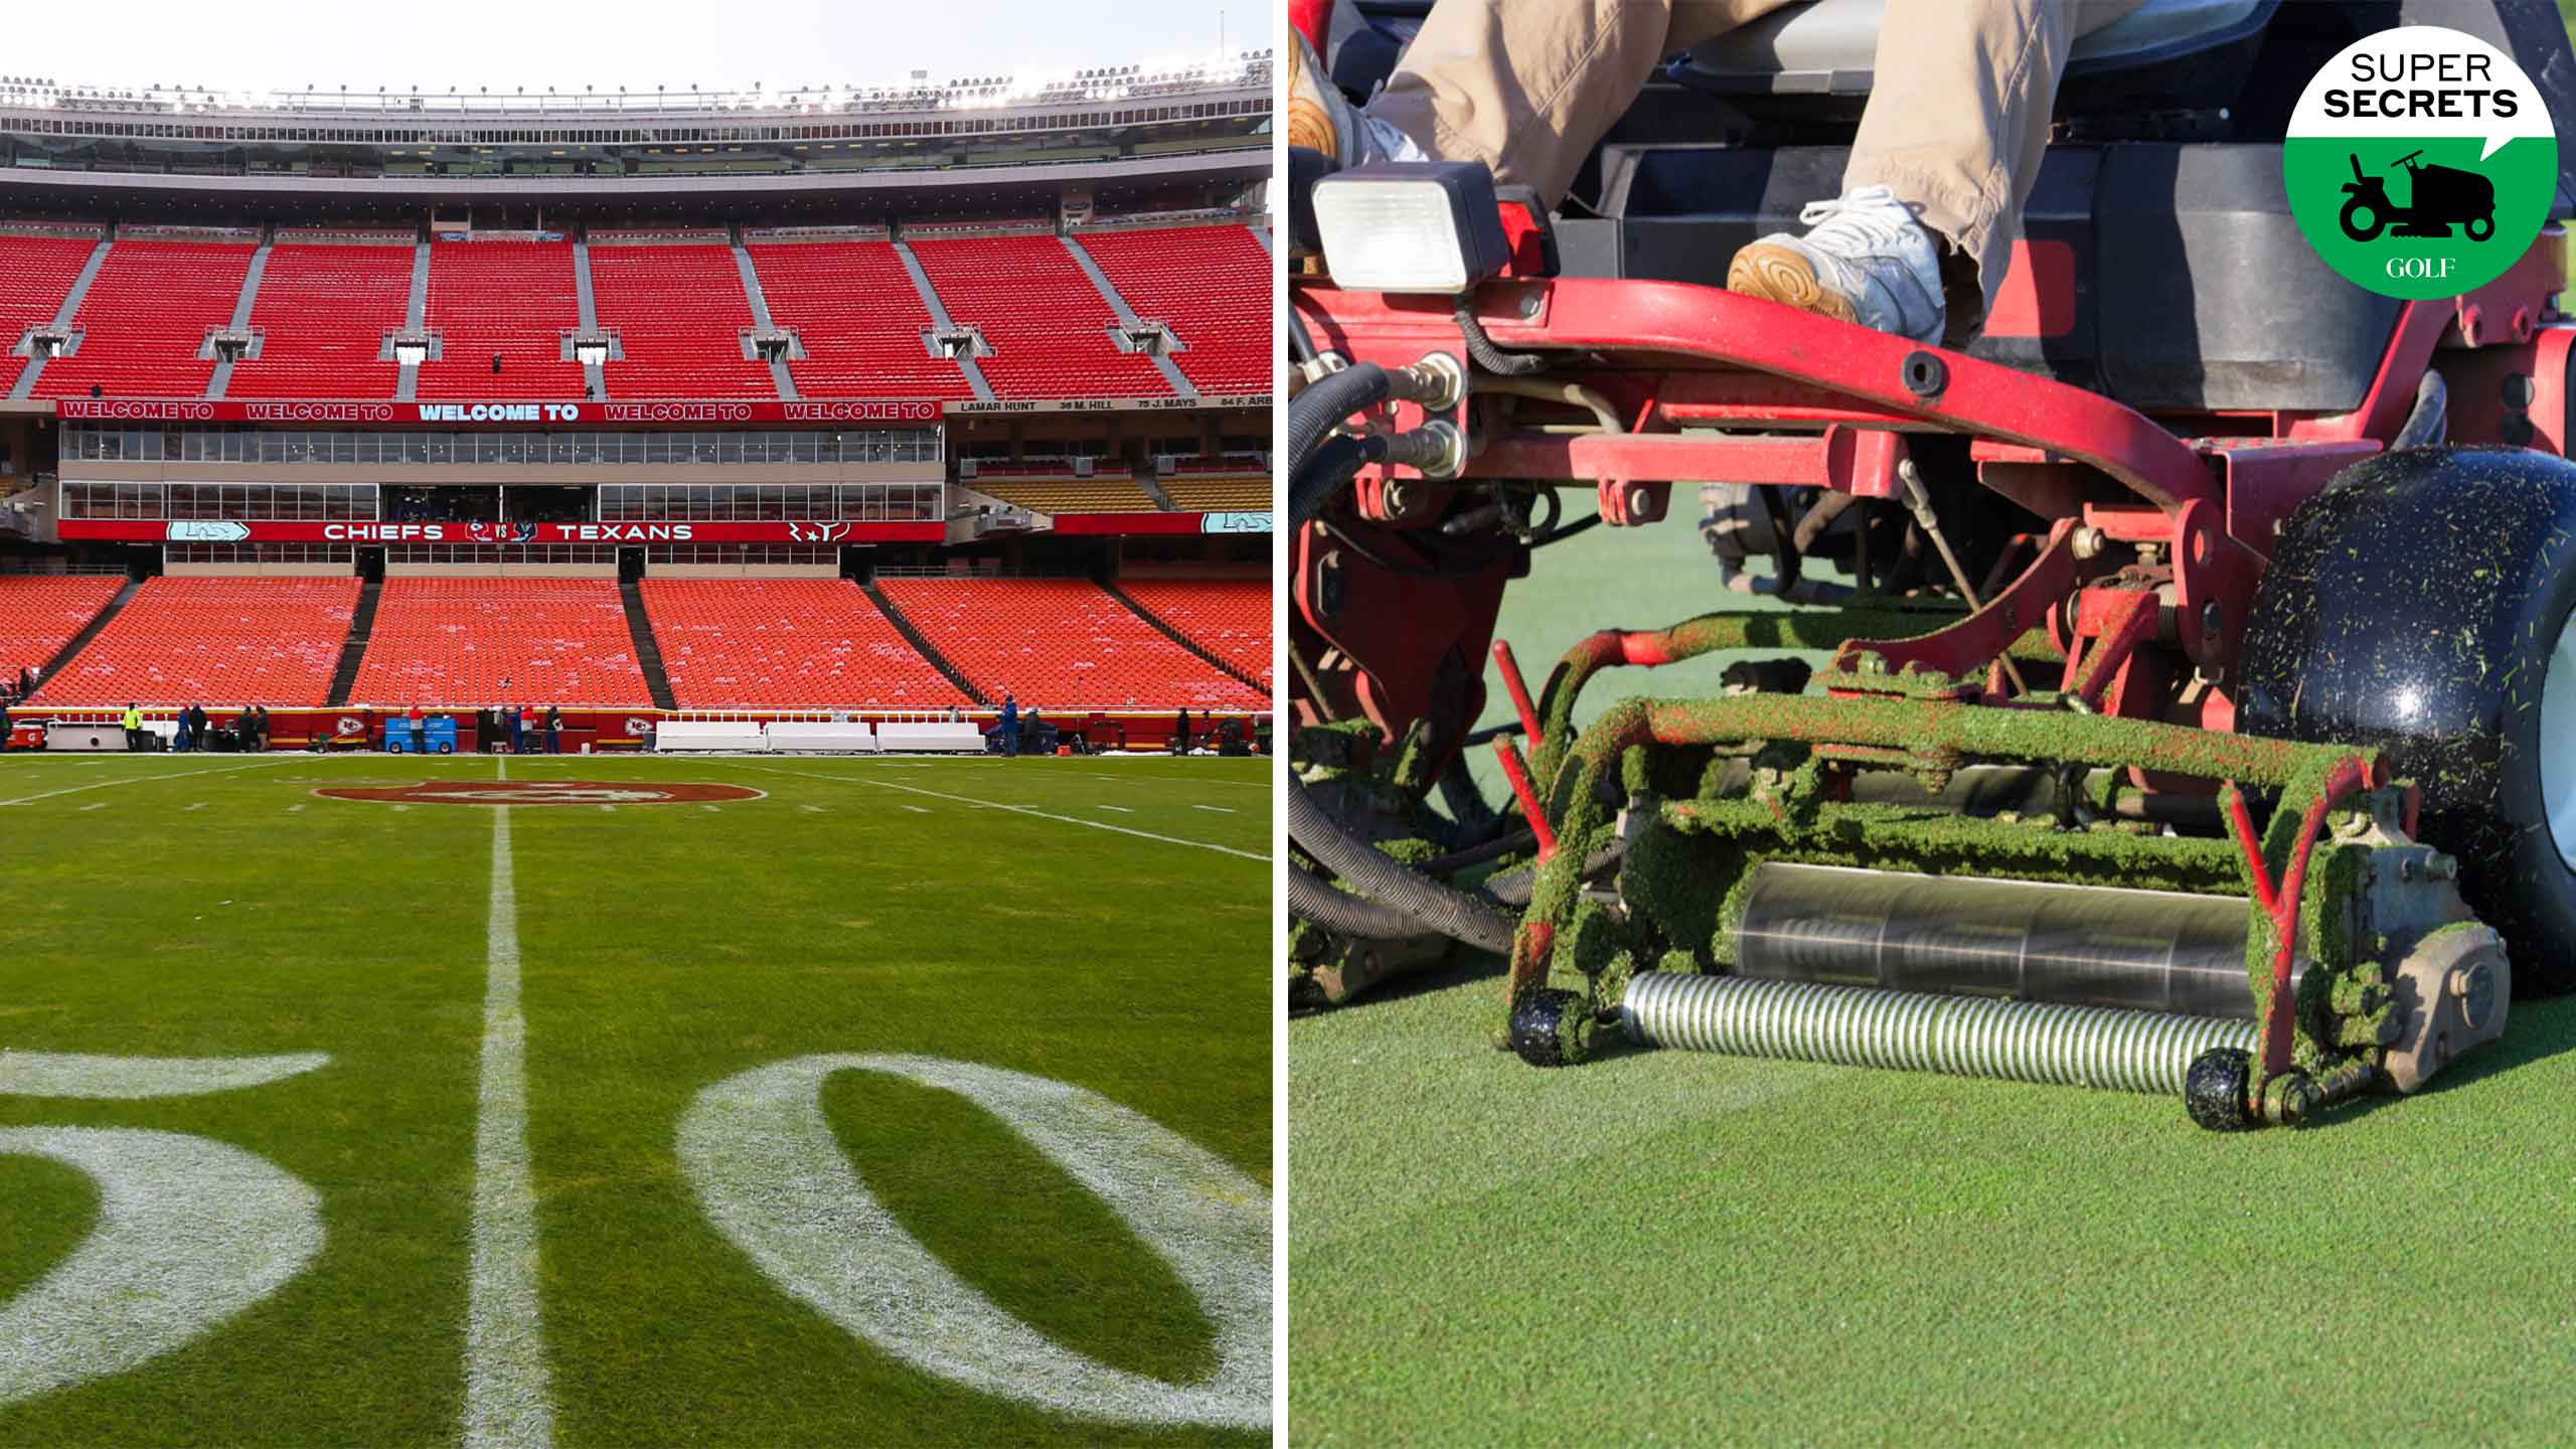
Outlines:
{"label": "white sneaker with tan toe resting above red mower frame", "polygon": [[1798,211],[1803,237],[1772,232],[1726,266],[1726,289],[1937,343],[1947,322],[1932,232],[1886,186]]}

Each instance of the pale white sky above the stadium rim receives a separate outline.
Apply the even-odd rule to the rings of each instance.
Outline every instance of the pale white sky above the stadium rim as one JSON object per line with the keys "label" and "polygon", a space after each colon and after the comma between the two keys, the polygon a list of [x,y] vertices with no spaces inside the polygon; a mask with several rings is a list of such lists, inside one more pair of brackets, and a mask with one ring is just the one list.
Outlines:
{"label": "pale white sky above the stadium rim", "polygon": [[[108,0],[5,5],[0,72],[209,90],[768,90],[1260,49],[1275,0]],[[100,28],[100,21],[108,21]]]}

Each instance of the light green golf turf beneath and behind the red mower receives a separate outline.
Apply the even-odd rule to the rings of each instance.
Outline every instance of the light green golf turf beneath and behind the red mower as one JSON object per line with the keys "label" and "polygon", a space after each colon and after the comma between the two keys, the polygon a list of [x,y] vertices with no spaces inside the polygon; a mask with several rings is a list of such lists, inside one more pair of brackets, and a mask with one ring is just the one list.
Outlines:
{"label": "light green golf turf beneath and behind the red mower", "polygon": [[[1533,688],[1589,629],[1731,601],[1677,492],[1674,521],[1558,544],[1504,596]],[[1726,663],[1607,670],[1584,714],[1713,694]],[[2419,1098],[2218,1137],[2161,1096],[1695,1052],[1540,1073],[1492,1047],[1499,969],[1288,1026],[1296,1444],[2563,1444],[2576,1421],[2576,1000],[2517,1006]]]}

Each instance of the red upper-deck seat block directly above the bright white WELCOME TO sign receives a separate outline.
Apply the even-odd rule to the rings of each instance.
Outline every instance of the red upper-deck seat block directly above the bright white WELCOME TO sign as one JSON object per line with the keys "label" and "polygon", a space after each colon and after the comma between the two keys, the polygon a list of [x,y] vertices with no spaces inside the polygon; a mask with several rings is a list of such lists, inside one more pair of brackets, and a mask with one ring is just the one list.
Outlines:
{"label": "red upper-deck seat block directly above the bright white WELCOME TO sign", "polygon": [[440,353],[420,364],[425,400],[582,397],[582,364],[562,356],[562,333],[582,325],[572,242],[433,245],[428,325]]}

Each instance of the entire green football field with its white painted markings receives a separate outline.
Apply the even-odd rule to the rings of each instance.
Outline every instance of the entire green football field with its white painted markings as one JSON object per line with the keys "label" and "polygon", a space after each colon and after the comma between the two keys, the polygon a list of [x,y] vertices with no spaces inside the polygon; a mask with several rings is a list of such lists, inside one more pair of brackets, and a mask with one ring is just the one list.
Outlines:
{"label": "entire green football field with its white painted markings", "polygon": [[0,843],[0,1444],[1267,1441],[1265,761],[10,755]]}

